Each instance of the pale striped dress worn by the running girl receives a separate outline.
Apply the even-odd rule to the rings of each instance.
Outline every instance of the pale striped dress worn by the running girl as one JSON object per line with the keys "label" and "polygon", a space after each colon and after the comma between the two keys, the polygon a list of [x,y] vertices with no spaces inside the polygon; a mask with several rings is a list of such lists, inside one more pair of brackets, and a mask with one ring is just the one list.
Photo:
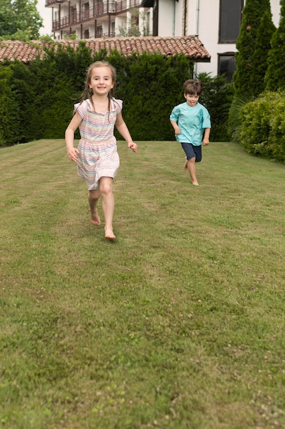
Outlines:
{"label": "pale striped dress worn by the running girl", "polygon": [[89,99],[74,106],[83,119],[79,125],[77,174],[86,180],[89,191],[98,188],[101,177],[114,178],[119,169],[114,125],[122,105],[122,100],[111,99],[110,111],[105,114],[95,112]]}

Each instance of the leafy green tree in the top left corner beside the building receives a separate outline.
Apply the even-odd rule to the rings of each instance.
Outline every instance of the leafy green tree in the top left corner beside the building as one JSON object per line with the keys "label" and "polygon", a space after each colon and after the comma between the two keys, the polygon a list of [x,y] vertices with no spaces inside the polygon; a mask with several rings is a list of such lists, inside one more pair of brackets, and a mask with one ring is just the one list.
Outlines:
{"label": "leafy green tree in the top left corner beside the building", "polygon": [[1,40],[38,39],[42,18],[37,4],[38,0],[0,0]]}

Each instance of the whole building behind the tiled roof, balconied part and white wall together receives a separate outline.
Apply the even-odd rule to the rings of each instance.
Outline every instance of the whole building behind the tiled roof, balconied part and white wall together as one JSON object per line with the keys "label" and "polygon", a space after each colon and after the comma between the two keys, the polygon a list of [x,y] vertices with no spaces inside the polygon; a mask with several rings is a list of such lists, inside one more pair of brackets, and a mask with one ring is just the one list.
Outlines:
{"label": "whole building behind the tiled roof, balconied part and white wall together", "polygon": [[[229,80],[244,5],[245,0],[46,0],[57,40],[197,35],[211,61],[195,64],[195,73],[225,73]],[[277,26],[280,0],[271,0],[271,12]]]}

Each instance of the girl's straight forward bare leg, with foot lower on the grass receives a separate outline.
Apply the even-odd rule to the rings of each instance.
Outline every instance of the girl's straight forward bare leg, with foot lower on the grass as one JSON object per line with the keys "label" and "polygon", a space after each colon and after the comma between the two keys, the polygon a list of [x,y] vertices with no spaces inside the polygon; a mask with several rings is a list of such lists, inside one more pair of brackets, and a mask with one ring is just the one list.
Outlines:
{"label": "girl's straight forward bare leg, with foot lower on the grass", "polygon": [[114,195],[112,182],[112,177],[101,177],[99,180],[99,190],[102,197],[102,210],[105,217],[105,236],[110,240],[114,240],[114,238],[116,238],[113,232]]}

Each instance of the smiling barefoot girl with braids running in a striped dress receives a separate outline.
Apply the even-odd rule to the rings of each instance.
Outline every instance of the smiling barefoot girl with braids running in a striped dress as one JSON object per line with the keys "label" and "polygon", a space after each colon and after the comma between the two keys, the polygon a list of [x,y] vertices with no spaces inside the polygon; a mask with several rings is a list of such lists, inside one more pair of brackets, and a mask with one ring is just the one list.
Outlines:
{"label": "smiling barefoot girl with braids running in a striped dress", "polygon": [[[127,141],[127,146],[134,152],[138,149],[123,120],[123,101],[113,97],[115,82],[116,71],[111,64],[106,61],[91,64],[87,70],[82,101],[75,104],[75,114],[65,132],[67,156],[77,162],[77,173],[87,182],[91,222],[94,225],[101,224],[97,212],[97,202],[101,197],[105,236],[110,240],[116,238],[112,225],[112,180],[119,169],[114,125]],[[80,140],[76,149],[73,143],[77,127]]]}

